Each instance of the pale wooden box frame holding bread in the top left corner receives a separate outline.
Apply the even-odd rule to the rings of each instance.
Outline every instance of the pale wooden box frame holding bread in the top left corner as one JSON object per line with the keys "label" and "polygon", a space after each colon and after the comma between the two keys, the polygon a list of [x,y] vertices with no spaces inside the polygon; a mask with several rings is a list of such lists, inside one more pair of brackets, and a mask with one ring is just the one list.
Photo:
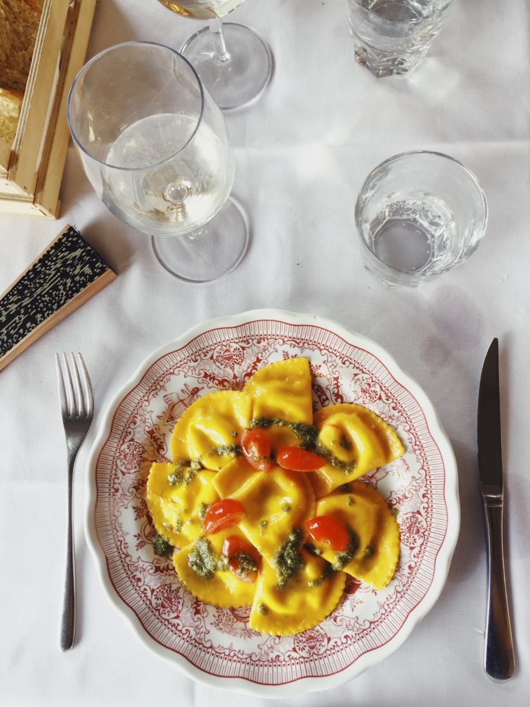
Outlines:
{"label": "pale wooden box frame holding bread in the top left corner", "polygon": [[96,0],[45,0],[12,145],[0,138],[0,214],[57,218],[69,129],[66,100],[83,66]]}

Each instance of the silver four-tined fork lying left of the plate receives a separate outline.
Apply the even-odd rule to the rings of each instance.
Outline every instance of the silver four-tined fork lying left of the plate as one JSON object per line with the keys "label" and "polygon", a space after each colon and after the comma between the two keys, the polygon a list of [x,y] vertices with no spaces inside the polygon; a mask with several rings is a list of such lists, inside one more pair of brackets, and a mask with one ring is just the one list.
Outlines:
{"label": "silver four-tined fork lying left of the plate", "polygon": [[61,398],[61,415],[68,458],[68,527],[66,532],[66,577],[61,618],[61,650],[73,645],[76,631],[76,585],[73,564],[72,486],[77,452],[86,438],[94,416],[94,394],[81,354],[55,354]]}

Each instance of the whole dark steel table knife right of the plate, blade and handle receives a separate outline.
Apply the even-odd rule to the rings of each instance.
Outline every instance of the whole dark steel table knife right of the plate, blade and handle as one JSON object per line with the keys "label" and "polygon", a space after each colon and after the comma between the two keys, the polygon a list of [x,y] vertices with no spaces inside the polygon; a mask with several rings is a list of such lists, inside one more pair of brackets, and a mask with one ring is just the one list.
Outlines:
{"label": "whole dark steel table knife right of the plate, blade and handle", "polygon": [[485,356],[478,389],[478,471],[481,479],[488,546],[488,612],[485,626],[484,670],[506,680],[514,674],[514,645],[506,593],[502,513],[502,440],[500,435],[499,341],[493,339]]}

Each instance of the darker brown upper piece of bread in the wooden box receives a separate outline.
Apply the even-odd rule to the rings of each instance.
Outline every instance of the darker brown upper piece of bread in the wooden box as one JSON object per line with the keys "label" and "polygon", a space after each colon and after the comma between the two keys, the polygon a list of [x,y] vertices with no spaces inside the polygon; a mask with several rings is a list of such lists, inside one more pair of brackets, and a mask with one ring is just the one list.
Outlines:
{"label": "darker brown upper piece of bread in the wooden box", "polygon": [[37,0],[0,0],[0,88],[25,89],[40,15]]}

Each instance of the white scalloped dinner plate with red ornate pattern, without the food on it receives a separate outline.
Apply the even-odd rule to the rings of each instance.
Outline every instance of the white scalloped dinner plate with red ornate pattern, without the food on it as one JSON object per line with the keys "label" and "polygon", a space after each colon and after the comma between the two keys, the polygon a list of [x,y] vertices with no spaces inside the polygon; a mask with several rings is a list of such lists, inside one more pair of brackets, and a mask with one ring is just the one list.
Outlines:
{"label": "white scalloped dinner plate with red ornate pattern, without the food on it", "polygon": [[[255,370],[309,358],[315,409],[364,405],[399,433],[406,454],[362,481],[395,509],[399,566],[384,590],[353,578],[322,624],[295,636],[249,627],[249,607],[222,609],[180,585],[153,553],[146,477],[170,460],[182,411],[214,390],[241,390]],[[269,697],[329,689],[404,643],[440,595],[459,531],[457,466],[423,390],[370,339],[312,315],[257,310],[190,329],[154,351],[114,397],[90,455],[86,532],[103,586],[143,643],[209,686]]]}

